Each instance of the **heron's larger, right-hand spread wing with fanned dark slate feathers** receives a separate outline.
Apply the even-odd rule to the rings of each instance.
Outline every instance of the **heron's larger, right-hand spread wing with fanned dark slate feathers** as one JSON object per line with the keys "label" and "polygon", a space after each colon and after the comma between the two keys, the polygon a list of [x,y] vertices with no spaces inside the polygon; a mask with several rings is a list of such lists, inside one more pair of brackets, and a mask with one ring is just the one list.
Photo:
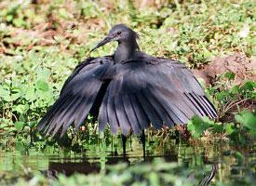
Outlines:
{"label": "heron's larger, right-hand spread wing with fanned dark slate feathers", "polygon": [[217,116],[195,76],[174,60],[141,58],[118,63],[99,113],[99,127],[108,123],[112,133],[135,134],[155,128],[186,124],[195,114]]}

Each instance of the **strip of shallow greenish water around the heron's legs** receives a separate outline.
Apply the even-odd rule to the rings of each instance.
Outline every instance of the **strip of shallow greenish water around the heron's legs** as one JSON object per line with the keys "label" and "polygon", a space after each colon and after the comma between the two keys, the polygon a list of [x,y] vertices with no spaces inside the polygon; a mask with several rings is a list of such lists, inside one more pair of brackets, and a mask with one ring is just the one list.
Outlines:
{"label": "strip of shallow greenish water around the heron's legs", "polygon": [[[209,171],[212,165],[216,166],[213,183],[224,184],[246,178],[256,180],[256,151],[250,149],[247,153],[241,153],[235,149],[225,142],[188,144],[179,140],[168,140],[164,143],[148,141],[146,155],[143,157],[142,147],[137,139],[128,141],[126,156],[122,154],[121,141],[109,148],[100,144],[96,148],[81,149],[79,153],[58,148],[47,148],[43,152],[34,148],[17,150],[14,147],[0,151],[0,178],[1,175],[2,178],[3,175],[5,178],[15,177],[28,169],[40,171],[48,177],[55,176],[57,172],[66,175],[74,172],[89,174],[100,172],[105,166],[118,162],[127,162],[132,166],[164,158],[168,162],[182,165],[184,169],[200,169],[203,173]],[[201,179],[203,178],[202,174]]]}

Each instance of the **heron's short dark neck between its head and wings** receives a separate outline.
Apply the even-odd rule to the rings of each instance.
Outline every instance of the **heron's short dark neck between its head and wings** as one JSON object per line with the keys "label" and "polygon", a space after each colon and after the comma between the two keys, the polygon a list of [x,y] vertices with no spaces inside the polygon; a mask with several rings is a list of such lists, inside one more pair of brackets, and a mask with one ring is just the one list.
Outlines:
{"label": "heron's short dark neck between its head and wings", "polygon": [[136,40],[133,42],[118,42],[114,56],[115,63],[132,59],[132,56],[138,50],[140,50],[140,48]]}

